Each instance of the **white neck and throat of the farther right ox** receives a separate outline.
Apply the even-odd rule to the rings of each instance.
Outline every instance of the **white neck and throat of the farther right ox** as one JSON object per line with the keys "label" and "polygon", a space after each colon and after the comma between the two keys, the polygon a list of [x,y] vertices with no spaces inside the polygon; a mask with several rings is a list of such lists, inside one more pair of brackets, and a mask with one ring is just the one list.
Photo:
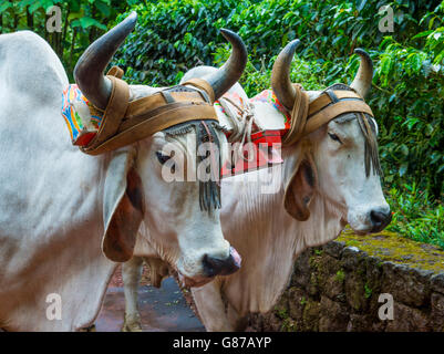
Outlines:
{"label": "white neck and throat of the farther right ox", "polygon": [[269,311],[290,280],[296,257],[308,247],[333,240],[342,230],[341,217],[319,192],[307,221],[298,221],[285,210],[283,190],[298,153],[295,147],[282,149],[282,177],[275,194],[258,192],[256,183],[236,184],[240,176],[228,178],[230,186],[223,185],[224,235],[242,256],[242,267],[221,282],[240,314]]}

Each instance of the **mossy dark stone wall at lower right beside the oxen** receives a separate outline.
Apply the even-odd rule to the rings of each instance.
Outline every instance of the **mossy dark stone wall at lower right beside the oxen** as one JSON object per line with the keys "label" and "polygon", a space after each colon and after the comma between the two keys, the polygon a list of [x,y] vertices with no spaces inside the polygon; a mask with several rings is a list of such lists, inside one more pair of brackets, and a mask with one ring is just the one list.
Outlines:
{"label": "mossy dark stone wall at lower right beside the oxen", "polygon": [[[393,320],[379,316],[380,294]],[[385,312],[386,313],[386,312]],[[273,311],[252,331],[444,331],[444,252],[392,233],[337,241],[300,254]]]}

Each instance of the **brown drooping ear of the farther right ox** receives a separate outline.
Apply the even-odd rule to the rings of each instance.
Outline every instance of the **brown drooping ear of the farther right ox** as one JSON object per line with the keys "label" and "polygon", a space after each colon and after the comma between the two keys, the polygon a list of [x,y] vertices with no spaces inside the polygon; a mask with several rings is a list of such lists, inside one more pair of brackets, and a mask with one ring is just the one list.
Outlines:
{"label": "brown drooping ear of the farther right ox", "polygon": [[283,207],[295,219],[306,221],[310,217],[309,205],[317,185],[317,168],[311,155],[307,155],[295,169],[283,196]]}

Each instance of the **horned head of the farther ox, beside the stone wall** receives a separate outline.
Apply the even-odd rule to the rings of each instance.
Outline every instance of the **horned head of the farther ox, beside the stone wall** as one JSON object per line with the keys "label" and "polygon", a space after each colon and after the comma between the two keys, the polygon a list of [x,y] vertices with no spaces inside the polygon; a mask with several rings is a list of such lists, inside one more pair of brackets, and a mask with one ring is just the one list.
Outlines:
{"label": "horned head of the farther ox, beside the stone wall", "polygon": [[[290,81],[290,64],[299,41],[289,43],[272,69],[271,84],[279,102],[292,110],[297,95]],[[368,94],[373,74],[371,58],[363,50],[360,67],[352,84],[334,90],[353,90]],[[309,102],[322,92],[307,92]],[[285,207],[298,220],[310,217],[309,205],[316,192],[322,195],[343,222],[357,233],[381,231],[391,221],[391,212],[381,189],[378,157],[378,124],[362,113],[345,113],[306,135],[296,146],[298,159],[287,185]]]}

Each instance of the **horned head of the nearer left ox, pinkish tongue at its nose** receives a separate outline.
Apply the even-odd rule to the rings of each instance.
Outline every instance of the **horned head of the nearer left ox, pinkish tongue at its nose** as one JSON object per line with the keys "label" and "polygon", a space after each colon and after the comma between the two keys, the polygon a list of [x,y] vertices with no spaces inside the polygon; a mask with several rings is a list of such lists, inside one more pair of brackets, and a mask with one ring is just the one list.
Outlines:
{"label": "horned head of the nearer left ox, pinkish tongue at its nose", "polygon": [[[113,94],[104,70],[135,23],[136,13],[133,12],[92,43],[74,69],[80,90],[97,108],[104,110]],[[247,61],[240,38],[227,30],[223,34],[233,44],[233,53],[224,66],[206,77],[215,100],[239,79]],[[156,91],[158,88],[130,85],[130,101]],[[144,222],[149,230],[149,242],[158,254],[178,271],[186,284],[196,287],[214,275],[233,273],[239,268],[239,259],[223,237],[217,204],[208,205],[211,210],[205,210],[199,205],[202,184],[198,180],[168,181],[164,178],[164,165],[172,157],[165,154],[167,150],[183,154],[185,160],[180,163],[192,169],[190,175],[197,168],[196,150],[189,148],[189,142],[196,139],[196,125],[185,124],[180,131],[182,134],[158,132],[131,146],[107,153],[102,248],[111,260],[127,261],[133,256],[136,233]],[[219,129],[215,129],[215,135],[221,143],[226,139]],[[172,145],[174,148],[171,148]],[[226,144],[220,146],[226,147]]]}

